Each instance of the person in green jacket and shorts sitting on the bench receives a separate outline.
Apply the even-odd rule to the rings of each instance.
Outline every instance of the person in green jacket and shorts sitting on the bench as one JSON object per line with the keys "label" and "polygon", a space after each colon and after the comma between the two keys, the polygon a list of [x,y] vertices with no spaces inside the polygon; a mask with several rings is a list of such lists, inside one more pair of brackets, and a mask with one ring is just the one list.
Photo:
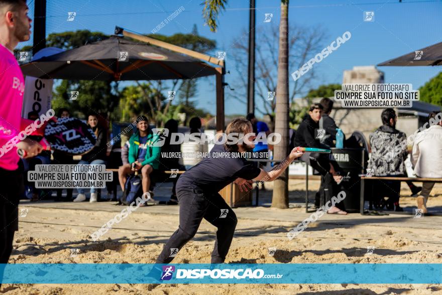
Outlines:
{"label": "person in green jacket and shorts sitting on the bench", "polygon": [[141,115],[137,122],[137,131],[129,139],[129,163],[118,168],[118,177],[124,190],[128,174],[141,170],[143,193],[149,192],[153,196],[149,190],[150,174],[159,167],[161,148],[154,145],[158,136],[152,133],[147,117]]}

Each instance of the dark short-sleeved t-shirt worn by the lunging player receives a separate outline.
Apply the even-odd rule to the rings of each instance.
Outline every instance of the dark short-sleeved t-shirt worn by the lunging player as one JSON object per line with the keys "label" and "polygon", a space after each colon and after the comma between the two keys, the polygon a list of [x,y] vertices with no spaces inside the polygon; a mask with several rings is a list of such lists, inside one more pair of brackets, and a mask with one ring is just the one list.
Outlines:
{"label": "dark short-sleeved t-shirt worn by the lunging player", "polygon": [[233,153],[228,153],[230,157],[220,153],[228,152],[224,144],[215,144],[210,151],[210,157],[204,158],[179,177],[177,189],[193,187],[218,192],[238,177],[250,180],[261,172],[261,169],[244,158],[236,157]]}

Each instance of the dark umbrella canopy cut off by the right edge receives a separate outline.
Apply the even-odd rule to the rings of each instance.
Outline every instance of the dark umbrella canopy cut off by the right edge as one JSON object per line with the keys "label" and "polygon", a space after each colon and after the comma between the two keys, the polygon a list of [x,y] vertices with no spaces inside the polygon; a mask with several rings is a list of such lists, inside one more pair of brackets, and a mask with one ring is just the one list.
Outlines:
{"label": "dark umbrella canopy cut off by the right edge", "polygon": [[442,65],[442,42],[387,60],[378,66]]}

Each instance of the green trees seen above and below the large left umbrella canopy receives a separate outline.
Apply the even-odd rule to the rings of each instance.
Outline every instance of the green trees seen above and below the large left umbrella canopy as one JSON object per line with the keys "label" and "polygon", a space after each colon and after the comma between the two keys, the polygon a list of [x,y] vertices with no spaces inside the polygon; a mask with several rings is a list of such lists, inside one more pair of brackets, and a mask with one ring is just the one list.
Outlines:
{"label": "green trees seen above and below the large left umbrella canopy", "polygon": [[[198,36],[196,26],[192,34],[174,34],[172,36],[152,35],[151,37],[198,52],[206,52],[216,48],[216,41]],[[77,48],[108,38],[100,32],[88,30],[51,33],[47,37],[46,46],[65,50]],[[32,47],[24,47],[17,51],[28,51]],[[111,121],[131,121],[134,117],[144,114],[158,126],[168,119],[178,119],[178,113],[188,116],[205,116],[202,110],[194,110],[190,100],[196,95],[196,79],[182,80],[178,87],[178,97],[184,106],[172,106],[162,93],[166,87],[162,81],[153,83],[137,83],[124,87],[119,91],[117,82],[87,80],[57,80],[52,98],[55,110],[67,108],[72,116],[84,118],[88,113],[104,113]],[[71,101],[70,91],[78,90],[78,99]],[[192,116],[193,117],[193,116]]]}

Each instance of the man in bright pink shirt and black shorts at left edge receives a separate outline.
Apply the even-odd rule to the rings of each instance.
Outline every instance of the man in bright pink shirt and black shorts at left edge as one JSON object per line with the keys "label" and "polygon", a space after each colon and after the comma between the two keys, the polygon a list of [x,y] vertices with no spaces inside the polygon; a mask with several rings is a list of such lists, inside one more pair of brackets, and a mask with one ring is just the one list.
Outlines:
{"label": "man in bright pink shirt and black shorts at left edge", "polygon": [[37,142],[26,138],[19,141],[17,137],[21,131],[25,80],[13,52],[19,42],[28,41],[30,36],[26,0],[0,0],[0,263],[8,263],[19,224],[23,173],[18,170],[17,148],[26,150],[28,157],[42,151]]}

